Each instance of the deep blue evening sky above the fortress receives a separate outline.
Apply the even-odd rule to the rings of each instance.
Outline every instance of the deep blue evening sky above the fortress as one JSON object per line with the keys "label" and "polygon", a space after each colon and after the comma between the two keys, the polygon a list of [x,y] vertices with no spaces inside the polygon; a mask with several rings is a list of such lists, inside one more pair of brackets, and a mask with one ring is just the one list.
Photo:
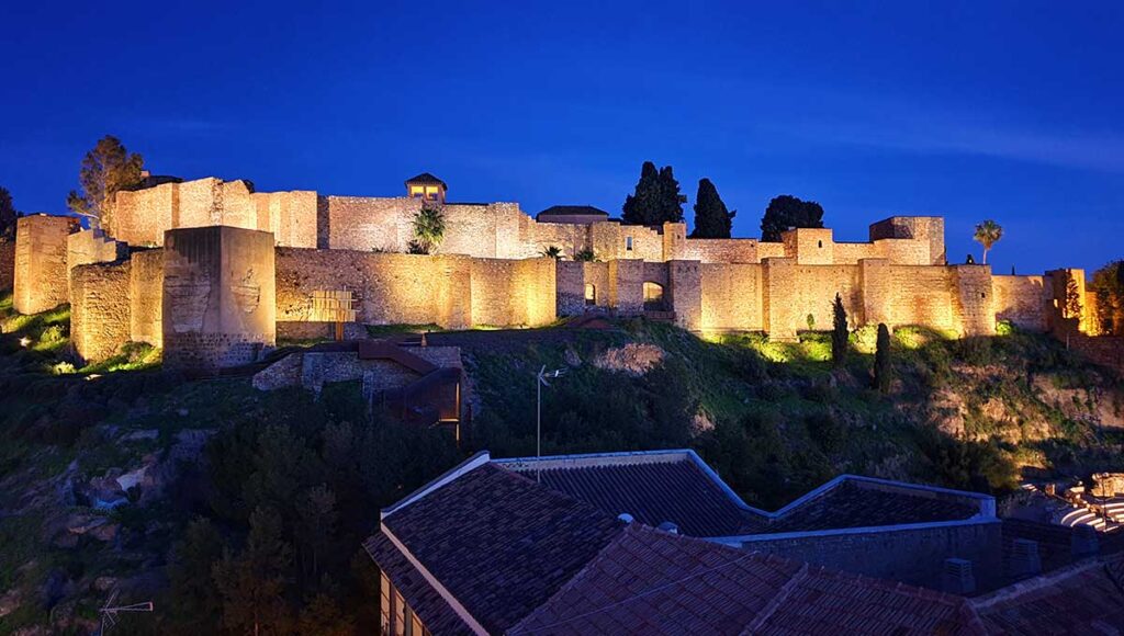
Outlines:
{"label": "deep blue evening sky above the fortress", "polygon": [[[1006,228],[999,273],[1124,256],[1124,4],[52,2],[0,9],[0,184],[65,210],[105,134],[160,174],[259,190],[619,213],[645,160],[773,196],[837,240],[895,213]],[[858,3],[855,3],[858,4]]]}

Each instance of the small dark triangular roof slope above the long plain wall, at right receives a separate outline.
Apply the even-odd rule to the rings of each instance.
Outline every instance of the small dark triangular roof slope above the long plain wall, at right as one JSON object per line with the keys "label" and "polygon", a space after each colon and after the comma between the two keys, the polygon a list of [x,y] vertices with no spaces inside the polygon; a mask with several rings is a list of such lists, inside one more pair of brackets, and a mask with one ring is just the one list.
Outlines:
{"label": "small dark triangular roof slope above the long plain wall, at right", "polygon": [[782,510],[765,533],[891,526],[971,518],[979,506],[951,498],[924,497],[905,489],[849,479],[794,508]]}

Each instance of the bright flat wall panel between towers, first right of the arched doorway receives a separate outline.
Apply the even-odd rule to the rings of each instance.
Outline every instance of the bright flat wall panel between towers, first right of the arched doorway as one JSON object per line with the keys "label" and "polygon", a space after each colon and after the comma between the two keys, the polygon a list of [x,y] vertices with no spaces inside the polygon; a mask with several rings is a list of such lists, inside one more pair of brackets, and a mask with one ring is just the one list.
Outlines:
{"label": "bright flat wall panel between towers, first right of the arched doorway", "polygon": [[701,265],[701,328],[758,331],[762,321],[762,266],[744,263]]}

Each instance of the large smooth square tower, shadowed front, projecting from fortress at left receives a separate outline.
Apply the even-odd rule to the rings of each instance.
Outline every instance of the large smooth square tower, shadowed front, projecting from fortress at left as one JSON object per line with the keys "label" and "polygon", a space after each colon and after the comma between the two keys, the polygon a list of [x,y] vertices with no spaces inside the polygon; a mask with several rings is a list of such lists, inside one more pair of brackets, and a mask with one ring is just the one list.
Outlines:
{"label": "large smooth square tower, shadowed front, projecting from fortress at left", "polygon": [[273,235],[174,229],[164,239],[164,365],[214,371],[253,362],[275,340]]}

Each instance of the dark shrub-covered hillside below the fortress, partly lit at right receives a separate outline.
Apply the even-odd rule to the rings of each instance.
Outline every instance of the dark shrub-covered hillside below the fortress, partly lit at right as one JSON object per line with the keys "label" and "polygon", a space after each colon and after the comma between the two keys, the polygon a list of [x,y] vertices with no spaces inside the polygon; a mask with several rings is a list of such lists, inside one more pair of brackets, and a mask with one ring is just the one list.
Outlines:
{"label": "dark shrub-covered hillside below the fortress, partly lit at right", "polygon": [[0,301],[0,634],[88,633],[115,587],[156,603],[118,634],[370,630],[360,542],[379,508],[475,449],[534,454],[543,365],[566,370],[543,391],[545,453],[692,447],[765,508],[841,472],[1001,493],[1120,469],[1124,442],[1118,381],[1009,329],[898,329],[887,394],[870,388],[873,329],[852,335],[841,370],[818,333],[700,339],[629,320],[434,334],[469,370],[459,448],[371,412],[355,384],[314,399],[188,380],[140,345],[76,367],[65,308],[16,317]]}

